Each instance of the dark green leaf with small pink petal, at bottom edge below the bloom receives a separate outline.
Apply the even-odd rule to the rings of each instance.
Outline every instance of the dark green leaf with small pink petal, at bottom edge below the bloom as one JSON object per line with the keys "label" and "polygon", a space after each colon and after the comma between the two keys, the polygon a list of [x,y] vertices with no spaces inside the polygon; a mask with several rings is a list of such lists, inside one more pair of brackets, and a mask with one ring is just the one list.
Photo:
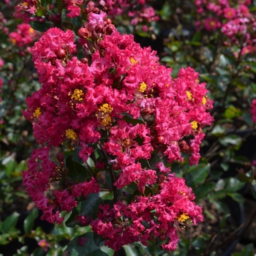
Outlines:
{"label": "dark green leaf with small pink petal, at bottom edge below the bloom", "polygon": [[[84,240],[82,240],[84,239]],[[84,245],[80,245],[79,242],[84,241]],[[97,246],[94,243],[94,234],[85,233],[82,236],[74,238],[65,250],[67,255],[72,256],[111,256],[114,254],[113,249],[107,246]]]}

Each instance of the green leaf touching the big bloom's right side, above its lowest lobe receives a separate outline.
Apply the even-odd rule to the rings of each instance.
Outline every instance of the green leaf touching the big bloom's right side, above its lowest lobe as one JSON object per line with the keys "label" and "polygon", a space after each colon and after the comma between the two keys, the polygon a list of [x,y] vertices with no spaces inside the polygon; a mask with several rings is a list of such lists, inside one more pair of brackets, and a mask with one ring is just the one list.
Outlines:
{"label": "green leaf touching the big bloom's right side, above its lowest lobe", "polygon": [[200,164],[192,166],[187,170],[186,181],[188,187],[195,187],[197,184],[203,183],[210,172],[210,165]]}

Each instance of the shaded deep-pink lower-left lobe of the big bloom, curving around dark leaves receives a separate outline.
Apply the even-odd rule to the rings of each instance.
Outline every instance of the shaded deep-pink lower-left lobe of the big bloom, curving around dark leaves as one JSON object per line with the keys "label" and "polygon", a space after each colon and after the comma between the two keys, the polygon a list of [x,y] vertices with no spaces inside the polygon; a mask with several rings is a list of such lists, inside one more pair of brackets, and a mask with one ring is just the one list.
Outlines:
{"label": "shaded deep-pink lower-left lobe of the big bloom, curving around dark leaves", "polygon": [[[23,184],[34,200],[37,208],[43,211],[41,219],[50,223],[61,224],[64,217],[59,217],[60,211],[72,211],[78,205],[77,198],[86,197],[89,193],[99,192],[99,184],[91,178],[80,183],[67,178],[67,170],[63,168],[63,159],[59,158],[59,166],[49,159],[49,148],[35,149],[28,162],[29,170],[23,172]],[[59,189],[50,189],[50,183],[66,178]],[[45,193],[51,192],[51,198]]]}

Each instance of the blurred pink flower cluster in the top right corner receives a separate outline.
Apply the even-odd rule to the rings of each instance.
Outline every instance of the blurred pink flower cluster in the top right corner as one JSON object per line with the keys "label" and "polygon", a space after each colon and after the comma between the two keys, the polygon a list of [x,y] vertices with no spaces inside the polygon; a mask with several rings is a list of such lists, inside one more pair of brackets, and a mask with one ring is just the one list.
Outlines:
{"label": "blurred pink flower cluster in the top right corner", "polygon": [[205,29],[221,29],[229,39],[229,44],[244,46],[241,50],[242,55],[255,52],[256,19],[255,14],[248,8],[250,0],[195,0],[195,4],[197,12],[204,18],[208,17],[203,23]]}

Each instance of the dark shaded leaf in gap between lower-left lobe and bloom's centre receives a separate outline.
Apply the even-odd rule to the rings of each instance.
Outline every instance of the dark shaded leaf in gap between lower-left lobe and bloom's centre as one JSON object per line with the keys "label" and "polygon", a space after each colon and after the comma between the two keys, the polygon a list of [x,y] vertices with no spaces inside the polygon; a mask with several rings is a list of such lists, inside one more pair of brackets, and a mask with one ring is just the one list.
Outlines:
{"label": "dark shaded leaf in gap between lower-left lobe and bloom's centre", "polygon": [[90,178],[91,174],[86,167],[80,165],[80,163],[72,160],[72,156],[67,157],[66,166],[69,170],[67,176],[71,178],[76,183],[80,183],[86,180],[86,178]]}

